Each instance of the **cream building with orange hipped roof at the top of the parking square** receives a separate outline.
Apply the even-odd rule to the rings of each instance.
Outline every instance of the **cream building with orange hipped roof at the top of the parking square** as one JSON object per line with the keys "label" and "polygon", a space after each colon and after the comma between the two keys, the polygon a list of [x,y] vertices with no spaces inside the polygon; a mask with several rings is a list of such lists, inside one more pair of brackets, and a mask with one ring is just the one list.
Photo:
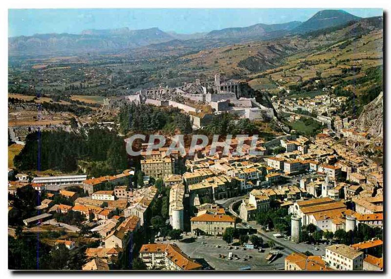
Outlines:
{"label": "cream building with orange hipped roof at the top of the parking square", "polygon": [[235,219],[230,215],[203,214],[190,219],[194,235],[221,236],[226,228],[236,228]]}

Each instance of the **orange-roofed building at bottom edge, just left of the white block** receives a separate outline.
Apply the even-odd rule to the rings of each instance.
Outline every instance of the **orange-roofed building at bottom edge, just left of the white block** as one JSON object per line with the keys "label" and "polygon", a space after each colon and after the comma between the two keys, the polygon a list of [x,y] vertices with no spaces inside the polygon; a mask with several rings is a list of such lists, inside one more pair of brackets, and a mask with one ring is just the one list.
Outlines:
{"label": "orange-roofed building at bottom edge, just left of the white block", "polygon": [[321,256],[305,256],[302,253],[292,253],[284,260],[285,270],[323,271],[332,270],[326,266]]}

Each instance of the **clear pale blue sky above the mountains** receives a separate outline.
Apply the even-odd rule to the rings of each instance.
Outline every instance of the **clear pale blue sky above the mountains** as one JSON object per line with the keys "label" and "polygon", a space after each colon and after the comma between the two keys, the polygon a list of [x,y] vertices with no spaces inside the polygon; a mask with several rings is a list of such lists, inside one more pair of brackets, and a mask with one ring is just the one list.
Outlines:
{"label": "clear pale blue sky above the mountains", "polygon": [[[85,29],[131,30],[158,27],[191,34],[257,23],[306,21],[319,9],[10,9],[8,37],[44,33],[80,34]],[[344,9],[359,17],[381,16],[382,9]]]}

